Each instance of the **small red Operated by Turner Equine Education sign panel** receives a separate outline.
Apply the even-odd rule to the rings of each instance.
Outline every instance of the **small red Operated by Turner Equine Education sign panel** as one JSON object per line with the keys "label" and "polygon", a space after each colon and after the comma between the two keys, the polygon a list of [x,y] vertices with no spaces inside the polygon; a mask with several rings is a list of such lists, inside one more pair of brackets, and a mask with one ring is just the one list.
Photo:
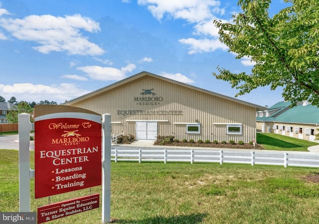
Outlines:
{"label": "small red Operated by Turner Equine Education sign panel", "polygon": [[45,223],[99,207],[99,194],[93,194],[68,201],[45,205],[37,209],[37,223]]}

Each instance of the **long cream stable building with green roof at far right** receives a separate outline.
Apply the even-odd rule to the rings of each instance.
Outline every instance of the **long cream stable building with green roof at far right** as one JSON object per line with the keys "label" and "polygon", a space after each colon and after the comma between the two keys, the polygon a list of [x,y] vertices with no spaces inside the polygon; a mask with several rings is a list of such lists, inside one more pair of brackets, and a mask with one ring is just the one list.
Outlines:
{"label": "long cream stable building with green roof at far right", "polygon": [[319,108],[307,101],[290,107],[290,102],[278,102],[269,110],[257,111],[257,132],[276,133],[318,142]]}

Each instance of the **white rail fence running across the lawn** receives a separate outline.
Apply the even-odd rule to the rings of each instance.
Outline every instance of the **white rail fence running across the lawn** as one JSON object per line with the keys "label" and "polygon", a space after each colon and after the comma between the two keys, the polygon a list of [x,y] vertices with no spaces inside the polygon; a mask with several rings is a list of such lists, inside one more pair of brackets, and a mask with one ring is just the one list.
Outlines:
{"label": "white rail fence running across the lawn", "polygon": [[111,160],[117,161],[161,161],[161,162],[218,162],[287,166],[319,167],[319,154],[231,151],[196,149],[112,149]]}

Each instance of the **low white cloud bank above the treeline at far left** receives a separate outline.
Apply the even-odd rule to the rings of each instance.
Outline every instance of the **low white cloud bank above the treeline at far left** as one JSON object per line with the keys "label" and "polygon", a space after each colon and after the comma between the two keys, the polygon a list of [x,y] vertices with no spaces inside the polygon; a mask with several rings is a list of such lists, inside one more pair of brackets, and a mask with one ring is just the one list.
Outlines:
{"label": "low white cloud bank above the treeline at far left", "polygon": [[61,83],[58,86],[48,86],[31,83],[0,84],[1,96],[6,100],[14,96],[17,101],[40,102],[41,100],[63,103],[90,91],[79,89],[74,84]]}

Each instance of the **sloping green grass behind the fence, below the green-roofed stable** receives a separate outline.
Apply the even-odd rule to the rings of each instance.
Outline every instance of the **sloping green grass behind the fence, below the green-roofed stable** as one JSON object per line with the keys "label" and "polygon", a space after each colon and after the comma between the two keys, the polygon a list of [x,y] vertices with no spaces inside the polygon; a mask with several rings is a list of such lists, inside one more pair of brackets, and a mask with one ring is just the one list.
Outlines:
{"label": "sloping green grass behind the fence, below the green-roofed stable", "polygon": [[318,143],[274,133],[257,133],[256,142],[267,150],[286,151],[308,151],[308,147],[318,145]]}

